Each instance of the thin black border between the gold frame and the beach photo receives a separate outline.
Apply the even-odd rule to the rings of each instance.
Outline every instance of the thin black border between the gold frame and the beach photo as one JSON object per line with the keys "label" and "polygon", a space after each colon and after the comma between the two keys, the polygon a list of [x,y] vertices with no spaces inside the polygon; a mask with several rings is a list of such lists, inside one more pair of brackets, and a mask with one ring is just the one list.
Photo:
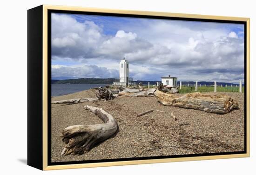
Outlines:
{"label": "thin black border between the gold frame and the beach photo", "polygon": [[[185,21],[201,21],[201,22],[217,22],[217,23],[231,23],[231,24],[243,24],[244,25],[244,151],[236,152],[220,152],[220,153],[205,153],[205,154],[189,154],[189,155],[174,155],[174,156],[152,156],[152,157],[133,157],[133,158],[119,158],[119,159],[101,159],[101,160],[85,160],[85,161],[70,161],[70,162],[51,162],[51,13],[68,13],[68,14],[86,14],[86,15],[101,15],[101,16],[115,16],[115,17],[131,17],[131,18],[147,18],[147,19],[171,19],[171,20],[185,20]],[[232,20],[216,20],[216,19],[192,19],[192,18],[179,18],[179,17],[163,17],[163,16],[150,16],[150,15],[133,15],[133,14],[116,14],[105,12],[77,12],[67,10],[48,10],[48,36],[47,36],[47,48],[48,48],[48,129],[47,129],[47,141],[48,141],[48,165],[65,165],[65,164],[78,164],[78,163],[93,163],[93,162],[118,162],[118,161],[131,161],[131,160],[146,160],[146,159],[162,159],[162,158],[175,158],[175,157],[196,157],[196,156],[215,156],[215,155],[232,155],[232,154],[246,154],[247,153],[247,25],[245,21],[232,21]]]}

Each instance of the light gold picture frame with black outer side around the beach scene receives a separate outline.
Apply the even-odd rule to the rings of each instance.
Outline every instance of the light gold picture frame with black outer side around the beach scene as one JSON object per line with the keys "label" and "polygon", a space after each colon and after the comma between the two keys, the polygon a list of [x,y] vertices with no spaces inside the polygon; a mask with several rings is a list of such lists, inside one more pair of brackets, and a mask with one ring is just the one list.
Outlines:
{"label": "light gold picture frame with black outer side around the beach scene", "polygon": [[[128,161],[115,161],[115,162],[92,162],[92,163],[75,163],[75,164],[61,164],[61,165],[49,165],[48,163],[48,88],[49,88],[49,80],[48,80],[48,69],[49,69],[49,60],[48,60],[48,18],[50,10],[60,10],[60,11],[74,11],[74,12],[100,12],[100,13],[112,13],[112,14],[124,14],[124,15],[146,15],[146,16],[155,16],[155,17],[172,17],[172,18],[186,18],[186,19],[205,19],[205,20],[223,20],[223,21],[242,21],[246,24],[246,153],[242,154],[223,154],[223,155],[210,155],[210,156],[188,156],[188,157],[174,157],[174,158],[160,158],[160,159],[143,159],[143,160],[128,160]],[[39,20],[35,19],[35,16],[39,15]],[[34,17],[31,17],[34,16]],[[249,112],[250,112],[250,78],[249,78],[249,53],[250,53],[250,19],[249,18],[239,18],[239,17],[224,17],[224,16],[210,16],[210,15],[197,15],[197,14],[183,14],[183,13],[170,13],[170,12],[147,12],[147,11],[130,11],[130,10],[116,10],[116,9],[102,9],[102,8],[88,8],[88,7],[74,7],[74,6],[51,6],[51,5],[42,5],[39,7],[35,7],[34,9],[28,10],[28,43],[32,42],[34,36],[38,36],[36,34],[32,35],[30,33],[30,27],[34,27],[37,22],[41,23],[41,37],[38,39],[38,42],[42,42],[41,47],[38,45],[28,44],[28,87],[32,86],[29,82],[33,81],[33,77],[30,74],[30,68],[34,66],[34,63],[30,63],[30,57],[32,56],[42,56],[38,62],[36,62],[39,66],[41,66],[41,75],[42,78],[39,80],[41,86],[40,93],[38,92],[40,89],[33,89],[30,87],[28,91],[31,94],[28,94],[28,99],[30,99],[30,95],[32,93],[40,94],[40,104],[34,104],[32,101],[28,100],[28,111],[34,108],[40,108],[40,111],[32,111],[28,112],[28,165],[33,166],[42,170],[53,170],[53,169],[73,169],[73,168],[88,168],[88,167],[102,167],[102,166],[117,166],[117,165],[132,165],[132,164],[145,164],[145,163],[162,163],[162,162],[180,162],[180,161],[195,161],[195,160],[209,160],[209,159],[224,159],[224,158],[238,158],[238,157],[249,157]],[[31,31],[32,32],[32,31]],[[30,40],[31,39],[31,40]],[[40,50],[39,55],[33,55],[31,50],[35,50],[34,47],[37,47],[37,50]],[[31,54],[30,54],[31,52]],[[36,53],[34,53],[36,54]],[[33,65],[32,65],[33,64]],[[32,70],[31,70],[32,71]],[[35,70],[34,70],[35,71]],[[40,70],[38,70],[40,71]],[[37,77],[38,78],[38,77]],[[34,105],[34,106],[33,106]],[[37,106],[35,106],[37,105]],[[33,116],[32,116],[33,114]],[[40,116],[39,119],[32,119],[32,117]],[[34,126],[37,128],[34,128]],[[39,132],[41,130],[41,132]],[[33,135],[34,134],[34,135]],[[34,139],[36,137],[35,134],[38,134],[38,138],[41,144],[37,150],[33,150],[34,147],[38,146],[34,143]],[[41,136],[40,136],[41,134]],[[41,160],[37,163],[36,157],[39,157]]]}

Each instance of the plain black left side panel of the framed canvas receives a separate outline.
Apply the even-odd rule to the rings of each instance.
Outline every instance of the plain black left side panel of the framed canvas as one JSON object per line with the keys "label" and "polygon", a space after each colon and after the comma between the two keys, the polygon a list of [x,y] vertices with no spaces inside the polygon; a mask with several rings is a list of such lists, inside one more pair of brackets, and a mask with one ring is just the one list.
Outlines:
{"label": "plain black left side panel of the framed canvas", "polygon": [[27,10],[27,165],[43,170],[43,6]]}

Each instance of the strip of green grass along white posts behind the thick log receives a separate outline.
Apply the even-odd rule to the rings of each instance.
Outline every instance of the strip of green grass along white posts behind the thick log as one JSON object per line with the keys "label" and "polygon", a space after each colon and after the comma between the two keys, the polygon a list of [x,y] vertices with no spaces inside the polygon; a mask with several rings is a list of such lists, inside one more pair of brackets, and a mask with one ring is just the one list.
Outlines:
{"label": "strip of green grass along white posts behind the thick log", "polygon": [[[190,90],[188,87],[182,86],[181,89],[179,89],[179,93],[193,93],[195,92],[195,89]],[[197,92],[214,92],[214,87],[198,87]],[[217,92],[239,92],[239,87],[217,87]],[[242,88],[242,92],[244,92],[244,87]]]}

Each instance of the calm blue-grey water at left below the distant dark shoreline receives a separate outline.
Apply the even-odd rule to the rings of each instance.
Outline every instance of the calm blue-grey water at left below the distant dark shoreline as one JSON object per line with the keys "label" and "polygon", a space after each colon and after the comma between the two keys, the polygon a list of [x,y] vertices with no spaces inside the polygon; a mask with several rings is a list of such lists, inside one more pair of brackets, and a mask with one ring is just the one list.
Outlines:
{"label": "calm blue-grey water at left below the distant dark shoreline", "polygon": [[51,96],[72,94],[75,92],[107,86],[107,84],[51,84]]}

